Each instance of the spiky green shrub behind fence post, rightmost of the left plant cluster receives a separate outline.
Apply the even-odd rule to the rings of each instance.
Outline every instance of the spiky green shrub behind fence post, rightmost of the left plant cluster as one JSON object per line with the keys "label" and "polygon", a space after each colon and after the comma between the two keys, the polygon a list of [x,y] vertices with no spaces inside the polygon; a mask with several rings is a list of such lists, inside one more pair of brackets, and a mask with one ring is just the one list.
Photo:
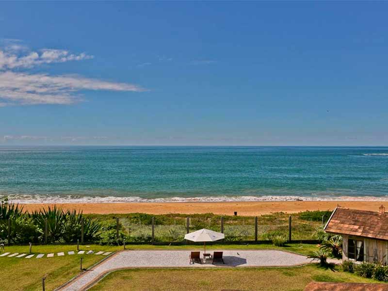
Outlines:
{"label": "spiky green shrub behind fence post, rightmost of the left plant cluster", "polygon": [[64,239],[66,242],[77,242],[81,239],[81,228],[83,220],[83,239],[85,242],[99,240],[101,234],[101,223],[91,217],[85,217],[82,211],[67,210],[65,214]]}

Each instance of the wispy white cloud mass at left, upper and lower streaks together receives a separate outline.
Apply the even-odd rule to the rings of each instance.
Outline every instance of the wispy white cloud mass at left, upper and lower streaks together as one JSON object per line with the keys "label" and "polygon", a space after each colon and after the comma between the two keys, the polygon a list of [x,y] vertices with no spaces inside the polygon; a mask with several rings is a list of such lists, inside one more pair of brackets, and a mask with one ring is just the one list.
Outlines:
{"label": "wispy white cloud mass at left, upper and lower streaks together", "polygon": [[145,91],[137,85],[89,79],[78,75],[31,74],[28,69],[42,64],[93,59],[86,53],[65,49],[31,51],[20,40],[2,39],[0,48],[0,107],[7,105],[72,104],[81,101],[82,90]]}

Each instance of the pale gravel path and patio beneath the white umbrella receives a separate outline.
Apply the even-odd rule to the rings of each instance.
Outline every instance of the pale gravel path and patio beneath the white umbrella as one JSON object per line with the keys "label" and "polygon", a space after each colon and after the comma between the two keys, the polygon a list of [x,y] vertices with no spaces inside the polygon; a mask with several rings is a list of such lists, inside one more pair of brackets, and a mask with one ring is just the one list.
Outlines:
{"label": "pale gravel path and patio beneath the white umbrella", "polygon": [[[101,276],[115,269],[144,268],[144,267],[191,267],[217,268],[226,267],[281,267],[307,264],[311,259],[306,256],[277,250],[227,250],[224,252],[225,265],[217,263],[189,264],[190,251],[163,250],[163,251],[121,251],[85,271],[74,281],[67,284],[61,291],[80,291],[98,280]],[[212,253],[212,251],[211,251]],[[202,257],[202,252],[201,252]]]}

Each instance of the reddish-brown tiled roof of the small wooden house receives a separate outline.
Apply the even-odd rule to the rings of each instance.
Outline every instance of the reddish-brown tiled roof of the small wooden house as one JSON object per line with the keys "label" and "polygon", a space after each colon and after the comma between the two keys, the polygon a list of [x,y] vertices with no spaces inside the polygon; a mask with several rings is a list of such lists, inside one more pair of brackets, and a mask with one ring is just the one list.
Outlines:
{"label": "reddish-brown tiled roof of the small wooden house", "polygon": [[388,213],[338,207],[324,230],[388,241]]}

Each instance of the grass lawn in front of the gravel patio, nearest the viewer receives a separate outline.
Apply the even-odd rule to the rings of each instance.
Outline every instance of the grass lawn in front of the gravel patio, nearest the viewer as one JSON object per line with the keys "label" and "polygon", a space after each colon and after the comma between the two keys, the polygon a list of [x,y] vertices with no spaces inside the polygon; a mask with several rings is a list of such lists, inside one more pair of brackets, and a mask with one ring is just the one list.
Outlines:
{"label": "grass lawn in front of the gravel patio, nearest the viewer", "polygon": [[302,291],[311,281],[377,283],[313,264],[290,268],[128,269],[110,273],[90,290]]}

